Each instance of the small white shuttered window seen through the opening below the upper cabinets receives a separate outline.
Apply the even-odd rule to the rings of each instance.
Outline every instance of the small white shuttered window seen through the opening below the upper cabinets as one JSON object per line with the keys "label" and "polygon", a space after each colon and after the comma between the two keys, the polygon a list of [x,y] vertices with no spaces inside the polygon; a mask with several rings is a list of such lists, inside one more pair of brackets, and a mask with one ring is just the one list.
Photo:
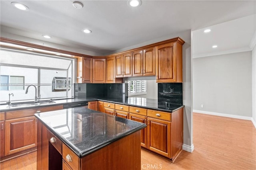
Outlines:
{"label": "small white shuttered window seen through the opening below the upper cabinets", "polygon": [[128,81],[128,95],[147,94],[146,80],[130,80]]}

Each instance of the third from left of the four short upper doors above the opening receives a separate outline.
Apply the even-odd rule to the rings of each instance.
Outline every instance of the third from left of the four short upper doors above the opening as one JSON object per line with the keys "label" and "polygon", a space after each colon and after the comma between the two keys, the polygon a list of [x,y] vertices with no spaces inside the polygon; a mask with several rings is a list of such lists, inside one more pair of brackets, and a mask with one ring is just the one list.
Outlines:
{"label": "third from left of the four short upper doors above the opening", "polygon": [[132,76],[143,76],[143,51],[132,53]]}

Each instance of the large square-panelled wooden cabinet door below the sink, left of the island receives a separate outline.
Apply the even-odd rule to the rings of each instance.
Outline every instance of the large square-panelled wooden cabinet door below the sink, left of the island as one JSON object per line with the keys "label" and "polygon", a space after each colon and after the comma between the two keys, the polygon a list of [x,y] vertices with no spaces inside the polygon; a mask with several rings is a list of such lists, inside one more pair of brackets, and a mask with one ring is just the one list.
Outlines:
{"label": "large square-panelled wooden cabinet door below the sink, left of the island", "polygon": [[5,155],[34,148],[37,145],[36,117],[6,120]]}

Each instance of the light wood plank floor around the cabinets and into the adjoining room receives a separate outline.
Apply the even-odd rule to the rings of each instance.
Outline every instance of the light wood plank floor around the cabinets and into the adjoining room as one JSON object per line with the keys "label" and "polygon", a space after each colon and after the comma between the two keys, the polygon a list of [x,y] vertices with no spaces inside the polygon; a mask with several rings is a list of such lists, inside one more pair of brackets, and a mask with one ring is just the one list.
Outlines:
{"label": "light wood plank floor around the cabinets and into the adjoining room", "polygon": [[[174,163],[141,150],[142,170],[256,170],[256,129],[251,121],[193,113],[194,151]],[[36,152],[0,164],[1,170],[36,169]]]}

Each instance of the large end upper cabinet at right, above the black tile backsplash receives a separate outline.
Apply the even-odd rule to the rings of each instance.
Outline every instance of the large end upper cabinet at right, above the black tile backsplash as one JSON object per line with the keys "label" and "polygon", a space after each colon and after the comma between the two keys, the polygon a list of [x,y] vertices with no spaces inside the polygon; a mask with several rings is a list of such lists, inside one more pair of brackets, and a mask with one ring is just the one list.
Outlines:
{"label": "large end upper cabinet at right, above the black tile backsplash", "polygon": [[156,46],[156,82],[182,82],[182,45],[184,41]]}

